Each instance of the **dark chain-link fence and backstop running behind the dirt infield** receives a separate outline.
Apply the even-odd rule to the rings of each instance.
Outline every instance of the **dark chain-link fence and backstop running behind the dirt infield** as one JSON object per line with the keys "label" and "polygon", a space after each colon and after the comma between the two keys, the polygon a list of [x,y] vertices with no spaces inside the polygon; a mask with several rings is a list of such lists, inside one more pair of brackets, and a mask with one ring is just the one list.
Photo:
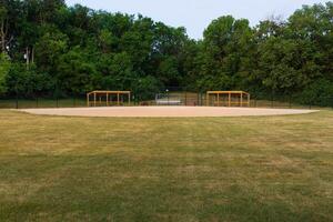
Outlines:
{"label": "dark chain-link fence and backstop running behind the dirt infield", "polygon": [[[205,92],[195,92],[182,88],[167,88],[152,93],[149,99],[139,93],[132,93],[131,103],[121,103],[122,105],[191,105],[204,107],[209,104]],[[145,97],[147,98],[147,97]],[[111,105],[112,103],[110,103]],[[210,103],[211,104],[211,103]],[[105,102],[98,102],[97,107],[104,107]],[[223,103],[220,104],[221,107]],[[225,103],[224,103],[225,105]],[[87,95],[72,97],[33,97],[24,95],[0,97],[0,109],[32,109],[32,108],[83,108],[87,107]],[[228,107],[228,105],[225,105]],[[238,107],[234,104],[233,107]],[[333,97],[313,98],[307,102],[300,102],[297,98],[275,97],[269,94],[265,97],[251,95],[251,108],[275,108],[275,109],[333,109]]]}

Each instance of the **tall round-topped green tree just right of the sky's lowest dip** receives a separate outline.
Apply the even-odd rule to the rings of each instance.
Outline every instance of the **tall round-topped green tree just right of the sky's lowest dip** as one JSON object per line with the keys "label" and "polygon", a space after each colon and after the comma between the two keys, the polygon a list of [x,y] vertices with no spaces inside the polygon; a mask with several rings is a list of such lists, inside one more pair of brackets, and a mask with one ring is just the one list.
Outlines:
{"label": "tall round-topped green tree just right of the sky's lowest dip", "polygon": [[204,31],[199,88],[239,88],[250,73],[252,36],[248,20],[228,16],[212,21]]}

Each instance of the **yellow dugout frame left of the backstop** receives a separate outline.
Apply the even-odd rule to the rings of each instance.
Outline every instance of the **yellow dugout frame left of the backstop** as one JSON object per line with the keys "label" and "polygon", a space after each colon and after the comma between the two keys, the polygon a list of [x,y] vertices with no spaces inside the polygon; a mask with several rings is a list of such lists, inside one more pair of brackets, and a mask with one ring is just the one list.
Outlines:
{"label": "yellow dugout frame left of the backstop", "polygon": [[[87,107],[97,107],[99,103],[100,105],[103,103],[101,97],[105,95],[107,101],[105,104],[107,107],[110,105],[109,98],[111,99],[110,95],[117,95],[117,105],[120,105],[120,95],[128,95],[129,98],[129,104],[131,104],[131,91],[92,91],[87,93]],[[93,95],[93,101],[90,101],[90,97]],[[99,101],[97,101],[97,97],[99,97]],[[91,105],[92,104],[92,105]]]}

